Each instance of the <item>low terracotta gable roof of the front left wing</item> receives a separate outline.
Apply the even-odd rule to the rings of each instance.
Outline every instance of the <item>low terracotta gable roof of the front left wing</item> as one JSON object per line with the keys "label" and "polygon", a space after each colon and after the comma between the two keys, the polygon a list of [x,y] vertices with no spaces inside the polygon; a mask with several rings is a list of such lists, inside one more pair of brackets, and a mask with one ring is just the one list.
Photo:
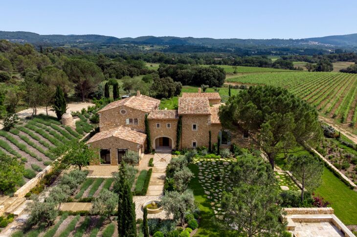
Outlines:
{"label": "low terracotta gable roof of the front left wing", "polygon": [[129,127],[120,126],[95,134],[87,141],[87,144],[110,137],[120,138],[141,145],[146,139],[146,134],[137,132]]}

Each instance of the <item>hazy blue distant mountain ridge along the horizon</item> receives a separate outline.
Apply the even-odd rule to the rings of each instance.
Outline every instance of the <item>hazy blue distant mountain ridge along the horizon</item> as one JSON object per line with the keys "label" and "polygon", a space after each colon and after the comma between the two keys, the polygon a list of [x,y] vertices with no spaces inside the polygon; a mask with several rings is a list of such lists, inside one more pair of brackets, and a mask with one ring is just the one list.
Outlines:
{"label": "hazy blue distant mountain ridge along the horizon", "polygon": [[0,31],[0,39],[11,40],[14,42],[29,43],[96,43],[96,44],[156,44],[156,45],[266,45],[266,46],[335,46],[335,47],[357,47],[357,34],[326,36],[307,39],[212,39],[212,38],[193,38],[193,37],[155,37],[141,36],[137,38],[116,38],[102,35],[39,35],[25,31]]}

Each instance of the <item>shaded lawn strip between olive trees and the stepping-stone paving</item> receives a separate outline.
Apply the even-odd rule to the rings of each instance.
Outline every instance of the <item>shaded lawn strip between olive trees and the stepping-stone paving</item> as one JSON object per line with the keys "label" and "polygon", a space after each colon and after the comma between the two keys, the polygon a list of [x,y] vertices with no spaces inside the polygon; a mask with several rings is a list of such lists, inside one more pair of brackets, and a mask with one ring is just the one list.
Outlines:
{"label": "shaded lawn strip between olive trees and the stepping-stone paving", "polygon": [[199,168],[195,164],[189,164],[188,167],[195,174],[195,178],[192,178],[189,183],[189,188],[193,190],[195,200],[199,204],[199,209],[201,211],[199,229],[196,236],[209,236],[209,237],[236,237],[238,233],[236,231],[226,231],[218,227],[214,223],[214,212],[211,208],[211,204],[205,197],[204,190],[199,182],[198,173]]}

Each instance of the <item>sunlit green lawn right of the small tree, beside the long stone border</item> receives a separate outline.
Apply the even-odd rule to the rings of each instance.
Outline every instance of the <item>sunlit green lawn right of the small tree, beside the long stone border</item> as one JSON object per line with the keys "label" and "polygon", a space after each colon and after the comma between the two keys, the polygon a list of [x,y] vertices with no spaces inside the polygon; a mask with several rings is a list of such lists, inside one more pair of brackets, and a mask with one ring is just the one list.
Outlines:
{"label": "sunlit green lawn right of the small tree, beside the long stone border", "polygon": [[335,215],[345,225],[357,225],[357,192],[347,187],[326,167],[322,184],[316,189],[316,194],[331,202]]}

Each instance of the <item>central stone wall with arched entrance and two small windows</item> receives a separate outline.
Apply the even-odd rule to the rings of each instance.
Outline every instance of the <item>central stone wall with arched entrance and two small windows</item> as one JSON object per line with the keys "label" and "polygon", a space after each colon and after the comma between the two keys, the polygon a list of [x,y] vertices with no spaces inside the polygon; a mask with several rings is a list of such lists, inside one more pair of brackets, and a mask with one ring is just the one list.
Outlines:
{"label": "central stone wall with arched entrance and two small windows", "polygon": [[[156,138],[166,137],[171,139],[172,149],[176,149],[176,131],[179,119],[150,119],[150,136],[152,148],[156,149]],[[160,123],[160,128],[156,128],[156,123]],[[167,128],[167,123],[171,123],[171,128]]]}

